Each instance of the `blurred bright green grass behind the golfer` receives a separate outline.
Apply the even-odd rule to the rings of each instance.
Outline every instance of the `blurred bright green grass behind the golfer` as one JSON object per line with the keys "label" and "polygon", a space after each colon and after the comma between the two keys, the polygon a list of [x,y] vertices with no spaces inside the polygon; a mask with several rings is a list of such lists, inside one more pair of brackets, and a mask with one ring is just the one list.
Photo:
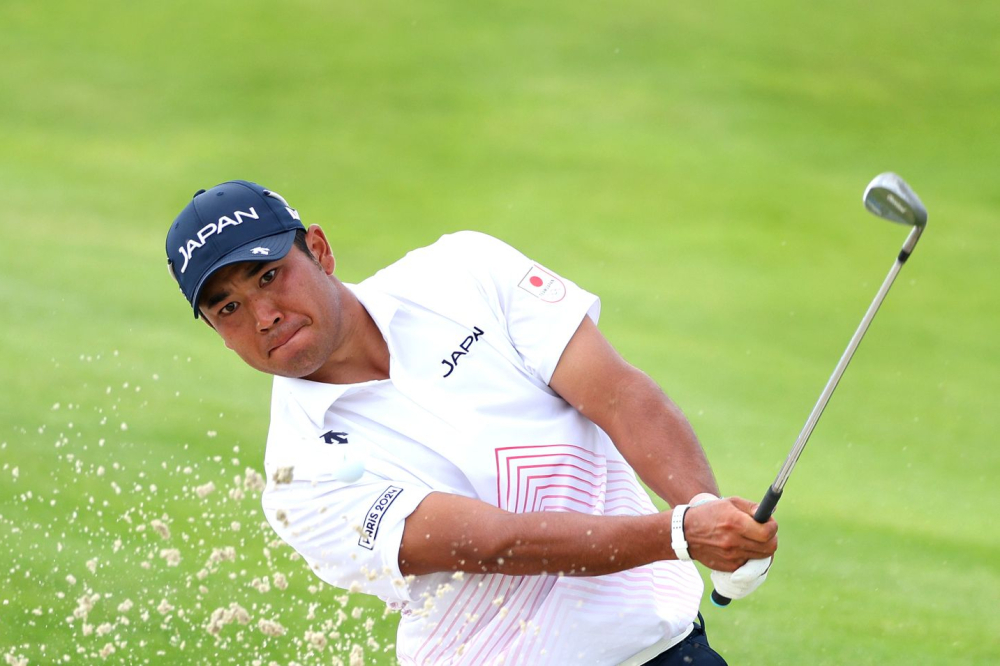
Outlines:
{"label": "blurred bright green grass behind the golfer", "polygon": [[[281,192],[347,281],[449,231],[507,240],[602,296],[724,492],[757,499],[905,236],[860,205],[895,170],[928,231],[789,483],[766,586],[705,614],[734,665],[1000,663],[998,34],[994,0],[6,0],[0,654],[392,663],[394,619],[229,495],[269,382],[165,270],[196,189]],[[230,602],[253,622],[216,639]]]}

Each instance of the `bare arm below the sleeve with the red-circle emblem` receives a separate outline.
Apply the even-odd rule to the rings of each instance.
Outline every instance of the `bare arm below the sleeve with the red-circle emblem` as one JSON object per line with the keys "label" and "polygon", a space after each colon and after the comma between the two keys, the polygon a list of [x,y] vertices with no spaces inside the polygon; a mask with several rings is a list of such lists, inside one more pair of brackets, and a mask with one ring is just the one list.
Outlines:
{"label": "bare arm below the sleeve with the red-circle emblem", "polygon": [[599,425],[649,488],[671,506],[719,495],[705,452],[680,408],[621,357],[584,317],[549,386]]}

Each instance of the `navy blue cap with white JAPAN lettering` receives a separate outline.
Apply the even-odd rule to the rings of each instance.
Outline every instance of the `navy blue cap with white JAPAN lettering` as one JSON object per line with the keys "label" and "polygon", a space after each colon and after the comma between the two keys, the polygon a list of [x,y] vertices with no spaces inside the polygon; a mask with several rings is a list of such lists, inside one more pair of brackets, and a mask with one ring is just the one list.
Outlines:
{"label": "navy blue cap with white JAPAN lettering", "polygon": [[198,317],[198,297],[212,274],[241,261],[274,261],[305,230],[282,196],[257,183],[230,180],[198,190],[167,232],[167,267]]}

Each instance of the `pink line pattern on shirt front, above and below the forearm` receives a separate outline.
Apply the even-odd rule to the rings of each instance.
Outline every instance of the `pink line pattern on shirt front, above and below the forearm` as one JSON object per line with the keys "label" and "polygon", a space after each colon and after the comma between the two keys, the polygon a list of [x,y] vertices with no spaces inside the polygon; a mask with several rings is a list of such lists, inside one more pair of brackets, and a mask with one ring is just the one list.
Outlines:
{"label": "pink line pattern on shirt front, above and below the forearm", "polygon": [[[627,464],[579,446],[503,447],[495,460],[497,506],[507,511],[655,511]],[[553,653],[566,653],[552,650],[553,637],[572,637],[573,650],[602,650],[593,627],[619,623],[623,608],[659,617],[662,631],[669,632],[677,621],[669,615],[697,608],[698,596],[687,598],[691,575],[664,562],[596,578],[467,575],[455,583],[460,589],[439,599],[442,607],[430,611],[433,628],[414,652],[415,663],[557,663]],[[672,602],[664,617],[667,597]]]}

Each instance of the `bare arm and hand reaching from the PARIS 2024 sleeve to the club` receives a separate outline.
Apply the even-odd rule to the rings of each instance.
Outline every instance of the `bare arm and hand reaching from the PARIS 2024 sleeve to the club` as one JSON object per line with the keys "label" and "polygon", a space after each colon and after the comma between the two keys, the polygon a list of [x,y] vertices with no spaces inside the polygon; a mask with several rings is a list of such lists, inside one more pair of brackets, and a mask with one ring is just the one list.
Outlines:
{"label": "bare arm and hand reaching from the PARIS 2024 sleeve to the club", "polygon": [[[684,525],[691,556],[717,571],[734,571],[749,559],[773,554],[777,526],[755,522],[753,509],[740,498],[689,509]],[[463,571],[600,576],[677,559],[670,519],[671,512],[510,513],[479,500],[435,492],[406,519],[399,566],[404,575]]]}

